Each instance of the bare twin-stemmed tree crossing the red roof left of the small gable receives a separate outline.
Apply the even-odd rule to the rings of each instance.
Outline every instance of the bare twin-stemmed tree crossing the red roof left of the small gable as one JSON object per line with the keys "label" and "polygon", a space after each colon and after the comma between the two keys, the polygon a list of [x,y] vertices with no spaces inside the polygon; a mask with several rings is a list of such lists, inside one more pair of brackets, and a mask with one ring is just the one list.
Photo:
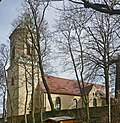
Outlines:
{"label": "bare twin-stemmed tree crossing the red roof left of the small gable", "polygon": [[[73,6],[70,6],[70,8],[72,7]],[[57,42],[59,42],[59,50],[62,54],[63,59],[65,60],[65,65],[67,65],[67,67],[70,69],[73,69],[75,73],[82,101],[86,110],[86,121],[89,123],[89,97],[86,95],[84,90],[85,42],[82,39],[82,33],[84,31],[83,24],[86,23],[88,17],[85,15],[85,11],[77,13],[77,9],[69,10],[71,11],[64,11],[60,17],[57,26],[59,36],[61,37],[59,41],[57,40]]]}

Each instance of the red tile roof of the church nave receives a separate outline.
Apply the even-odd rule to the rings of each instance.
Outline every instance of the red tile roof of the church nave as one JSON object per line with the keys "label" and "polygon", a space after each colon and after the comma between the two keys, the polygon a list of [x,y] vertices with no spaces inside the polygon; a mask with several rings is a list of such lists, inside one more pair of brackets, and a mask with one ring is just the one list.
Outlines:
{"label": "red tile roof of the church nave", "polygon": [[[53,77],[53,76],[45,76],[48,87],[51,93],[56,94],[69,94],[69,95],[80,95],[80,90],[78,87],[78,82],[76,80],[70,80],[65,78]],[[41,90],[46,92],[43,83],[40,84]],[[100,84],[94,84],[94,86],[99,91],[104,91],[105,87]],[[85,93],[89,94],[93,87],[93,83],[85,83]]]}

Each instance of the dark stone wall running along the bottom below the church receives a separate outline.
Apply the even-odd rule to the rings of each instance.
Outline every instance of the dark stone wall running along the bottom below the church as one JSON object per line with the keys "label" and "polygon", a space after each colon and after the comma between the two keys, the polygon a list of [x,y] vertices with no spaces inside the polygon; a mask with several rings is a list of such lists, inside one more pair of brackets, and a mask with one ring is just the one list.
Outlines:
{"label": "dark stone wall running along the bottom below the church", "polygon": [[[71,116],[74,117],[79,123],[85,123],[86,113],[85,108],[82,109],[69,109],[55,111],[56,116]],[[120,123],[120,104],[112,106],[112,123]],[[41,113],[35,114],[36,123],[41,123],[40,121]],[[52,117],[50,111],[43,113],[43,120],[48,117]],[[8,123],[10,123],[10,118],[8,118]],[[24,123],[24,116],[14,117],[14,123]],[[28,123],[32,123],[32,117],[28,115]],[[108,107],[92,107],[90,108],[90,123],[108,123]]]}

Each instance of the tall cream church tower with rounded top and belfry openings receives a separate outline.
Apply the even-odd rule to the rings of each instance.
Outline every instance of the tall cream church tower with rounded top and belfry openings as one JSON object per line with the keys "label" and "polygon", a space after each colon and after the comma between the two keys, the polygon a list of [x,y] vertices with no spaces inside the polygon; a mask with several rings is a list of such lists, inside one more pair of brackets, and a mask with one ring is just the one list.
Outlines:
{"label": "tall cream church tower with rounded top and belfry openings", "polygon": [[[39,110],[39,69],[35,45],[25,28],[17,28],[10,39],[10,67],[8,68],[7,117],[28,114],[31,110],[32,82],[35,88],[35,110]],[[37,96],[36,96],[37,95]],[[25,109],[25,104],[26,109]]]}

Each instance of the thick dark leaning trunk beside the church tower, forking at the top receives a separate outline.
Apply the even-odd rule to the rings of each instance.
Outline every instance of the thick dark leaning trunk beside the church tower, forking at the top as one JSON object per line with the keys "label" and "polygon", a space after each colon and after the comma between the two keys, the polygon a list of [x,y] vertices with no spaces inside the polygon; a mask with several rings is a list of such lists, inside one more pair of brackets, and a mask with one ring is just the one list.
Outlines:
{"label": "thick dark leaning trunk beside the church tower, forking at the top", "polygon": [[[54,115],[54,106],[53,106],[53,102],[52,102],[52,98],[51,98],[51,95],[50,95],[50,91],[49,91],[49,87],[47,85],[47,82],[45,80],[45,77],[44,77],[44,70],[43,70],[43,65],[42,65],[42,52],[41,52],[41,45],[40,45],[40,41],[41,41],[41,29],[42,29],[42,26],[43,26],[43,20],[44,20],[44,16],[45,16],[45,11],[49,5],[49,2],[46,3],[43,3],[43,10],[42,10],[42,16],[40,16],[39,14],[39,5],[40,5],[40,1],[27,1],[27,4],[28,4],[28,7],[29,7],[29,14],[30,16],[32,17],[32,27],[34,28],[35,30],[35,36],[33,35],[33,30],[31,30],[31,27],[30,25],[26,25],[28,31],[30,32],[30,35],[31,35],[31,39],[32,41],[34,42],[34,45],[35,45],[35,49],[37,51],[37,54],[38,54],[38,64],[39,64],[39,68],[40,68],[40,71],[41,71],[41,78],[42,78],[42,81],[44,83],[44,86],[46,88],[46,91],[47,91],[47,94],[48,94],[48,100],[49,100],[49,103],[50,103],[50,106],[51,106],[51,111],[53,112],[53,115]],[[32,29],[33,29],[32,28]]]}

